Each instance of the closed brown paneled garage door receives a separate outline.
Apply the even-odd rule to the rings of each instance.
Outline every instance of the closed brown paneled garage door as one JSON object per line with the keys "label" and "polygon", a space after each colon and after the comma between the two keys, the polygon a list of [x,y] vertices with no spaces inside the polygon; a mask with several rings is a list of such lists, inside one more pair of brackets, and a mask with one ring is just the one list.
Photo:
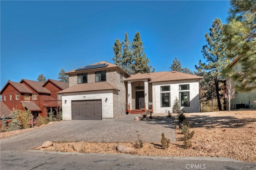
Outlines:
{"label": "closed brown paneled garage door", "polygon": [[73,120],[102,120],[101,100],[72,101]]}

